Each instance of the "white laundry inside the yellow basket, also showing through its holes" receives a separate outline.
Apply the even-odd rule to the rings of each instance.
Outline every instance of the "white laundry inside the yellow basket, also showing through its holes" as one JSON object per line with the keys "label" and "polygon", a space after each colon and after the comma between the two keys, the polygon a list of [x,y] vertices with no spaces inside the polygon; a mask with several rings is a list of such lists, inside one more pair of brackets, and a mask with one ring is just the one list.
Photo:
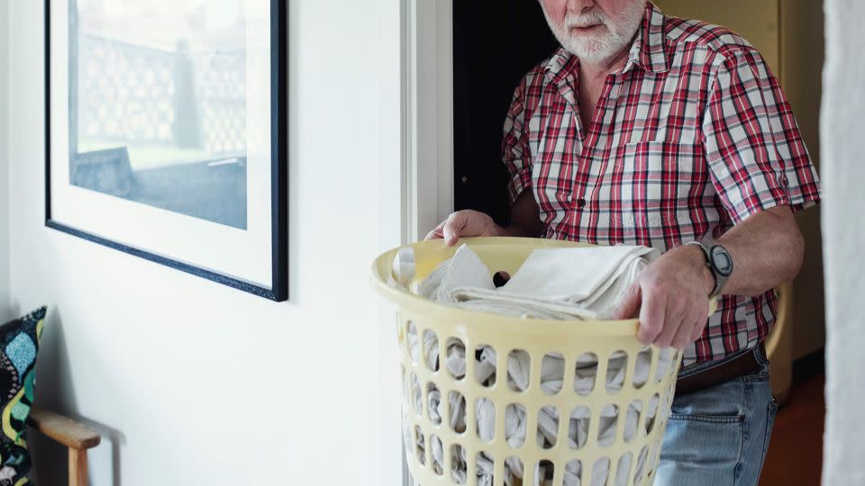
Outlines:
{"label": "white laundry inside the yellow basket, also showing through its holes", "polygon": [[[454,257],[438,266],[423,282],[414,289],[418,293],[435,302],[464,309],[493,312],[497,314],[519,316],[535,319],[582,320],[609,318],[615,306],[621,299],[636,276],[648,263],[660,254],[648,247],[572,247],[572,248],[539,248],[525,260],[523,266],[504,286],[496,289],[492,273],[483,261],[468,246],[460,247]],[[401,287],[414,278],[414,256],[407,253],[398,254],[399,262],[394,263],[393,281]],[[411,275],[406,277],[406,275]],[[417,333],[409,332],[408,346],[415,361],[422,359]],[[423,336],[426,350],[423,360],[431,369],[438,369],[439,346],[438,338],[432,333]],[[645,348],[644,348],[645,349]],[[465,376],[466,349],[458,340],[447,343],[444,365],[448,372],[457,379]],[[660,379],[669,372],[675,350],[668,348],[661,351],[655,378]],[[626,356],[616,352],[609,358],[604,383],[596,382],[597,359],[590,354],[579,356],[572,374],[566,374],[564,359],[561,355],[551,354],[542,360],[541,387],[549,393],[559,392],[564,383],[573,380],[574,391],[586,395],[595,386],[605,386],[614,392],[624,385]],[[633,380],[645,383],[649,375],[649,353],[638,353]],[[529,384],[530,358],[526,353],[512,353],[507,358],[507,383],[517,391],[524,391]],[[490,383],[496,379],[496,350],[483,347],[475,359],[475,378],[478,383]],[[563,380],[564,378],[564,380]],[[406,377],[406,380],[408,378]],[[405,390],[412,390],[412,400],[415,410],[423,410],[422,393],[418,383],[405,383]],[[463,432],[466,424],[466,401],[459,393],[451,393],[447,400],[442,400],[438,389],[432,388],[427,394],[430,419],[433,423],[441,423],[446,416],[443,407],[450,407],[450,426],[457,432]],[[658,410],[659,400],[652,397],[645,410],[647,428]],[[482,440],[492,440],[495,434],[495,404],[492,401],[476,402],[476,431]],[[616,433],[616,421],[619,413],[624,413],[624,437],[636,434],[637,422],[642,413],[642,403],[635,401],[627,410],[616,410],[614,405],[607,405],[600,413],[597,440],[600,445],[612,444]],[[588,440],[588,425],[591,412],[586,407],[576,407],[565,410],[569,413],[568,437],[569,446],[578,448],[585,446]],[[538,417],[538,429],[535,439],[539,446],[551,447],[558,437],[560,410],[544,407]],[[406,431],[406,444],[414,443]],[[508,406],[505,409],[505,440],[511,446],[521,446],[527,437],[526,411],[524,408]],[[416,446],[423,451],[423,440],[418,439]],[[432,466],[442,470],[444,451],[441,443],[431,441]],[[465,451],[451,449],[451,476],[460,482],[466,482]],[[641,471],[645,456],[637,458],[636,468],[630,469],[630,474]],[[592,486],[605,483],[609,471],[609,462],[599,462],[593,468]],[[505,485],[514,484],[514,479],[522,481],[524,477],[523,464],[518,460],[505,462]],[[565,486],[580,486],[581,467],[576,463],[565,466]],[[627,482],[624,470],[619,468],[615,485]],[[478,460],[478,483],[492,484],[493,462],[488,457]],[[542,478],[549,472],[543,471],[540,465],[535,466],[535,485],[546,484]]]}

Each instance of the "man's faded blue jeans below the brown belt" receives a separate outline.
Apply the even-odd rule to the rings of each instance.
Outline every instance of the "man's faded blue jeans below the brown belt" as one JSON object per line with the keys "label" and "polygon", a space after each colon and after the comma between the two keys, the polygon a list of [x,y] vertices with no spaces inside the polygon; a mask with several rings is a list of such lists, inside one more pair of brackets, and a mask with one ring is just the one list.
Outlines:
{"label": "man's faded blue jeans below the brown belt", "polygon": [[[778,403],[769,387],[769,360],[755,347],[760,369],[673,398],[654,484],[757,484]],[[695,365],[679,376],[717,365]]]}

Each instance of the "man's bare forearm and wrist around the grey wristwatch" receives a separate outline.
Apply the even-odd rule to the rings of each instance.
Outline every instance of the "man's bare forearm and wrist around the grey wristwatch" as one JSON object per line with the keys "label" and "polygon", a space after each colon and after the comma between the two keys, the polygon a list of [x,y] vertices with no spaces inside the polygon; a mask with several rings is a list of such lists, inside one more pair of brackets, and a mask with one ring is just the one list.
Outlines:
{"label": "man's bare forearm and wrist around the grey wristwatch", "polygon": [[[733,257],[733,275],[722,293],[760,295],[783,282],[792,280],[802,266],[805,243],[789,206],[778,206],[743,220],[715,243]],[[688,245],[673,251],[703,266],[703,281],[711,289],[715,279],[706,268],[706,257],[698,247]]]}

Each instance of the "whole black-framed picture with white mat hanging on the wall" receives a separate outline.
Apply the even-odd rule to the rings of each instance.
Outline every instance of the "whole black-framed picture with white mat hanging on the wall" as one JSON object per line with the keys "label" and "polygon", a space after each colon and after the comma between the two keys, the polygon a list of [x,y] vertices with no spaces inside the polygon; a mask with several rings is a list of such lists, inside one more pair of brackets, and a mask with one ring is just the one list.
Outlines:
{"label": "whole black-framed picture with white mat hanging on the wall", "polygon": [[284,0],[46,0],[46,225],[287,299]]}

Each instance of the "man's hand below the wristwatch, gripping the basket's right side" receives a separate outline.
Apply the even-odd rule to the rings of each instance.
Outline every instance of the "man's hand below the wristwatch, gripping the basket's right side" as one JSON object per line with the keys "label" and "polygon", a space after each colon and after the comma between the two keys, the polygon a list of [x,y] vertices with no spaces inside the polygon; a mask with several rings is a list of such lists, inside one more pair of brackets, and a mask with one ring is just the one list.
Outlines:
{"label": "man's hand below the wristwatch, gripping the basket's right side", "polygon": [[[683,349],[703,334],[715,277],[694,245],[670,250],[642,271],[625,292],[615,319],[639,310],[637,338],[644,345]],[[642,305],[641,305],[642,304]]]}

